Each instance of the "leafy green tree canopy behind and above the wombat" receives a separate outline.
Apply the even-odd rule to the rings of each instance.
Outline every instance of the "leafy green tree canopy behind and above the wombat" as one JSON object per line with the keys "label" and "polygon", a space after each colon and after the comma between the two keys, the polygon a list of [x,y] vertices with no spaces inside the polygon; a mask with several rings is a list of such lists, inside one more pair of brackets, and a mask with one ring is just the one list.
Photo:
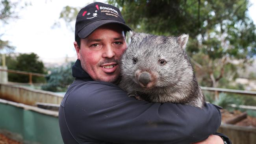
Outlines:
{"label": "leafy green tree canopy behind and above the wombat", "polygon": [[[249,0],[108,0],[135,31],[190,36],[187,53],[204,86],[219,87],[231,62],[256,54],[256,28],[247,16]],[[226,68],[229,67],[229,68]],[[227,70],[230,70],[229,72]],[[231,73],[230,78],[236,76]]]}

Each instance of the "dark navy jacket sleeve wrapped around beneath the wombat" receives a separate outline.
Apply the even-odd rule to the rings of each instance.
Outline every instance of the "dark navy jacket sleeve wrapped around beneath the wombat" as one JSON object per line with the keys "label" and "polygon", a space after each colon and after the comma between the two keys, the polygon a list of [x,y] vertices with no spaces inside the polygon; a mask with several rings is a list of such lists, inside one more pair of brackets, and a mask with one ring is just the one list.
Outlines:
{"label": "dark navy jacket sleeve wrapped around beneath the wombat", "polygon": [[218,107],[202,109],[173,103],[149,103],[119,87],[93,81],[70,89],[63,102],[65,123],[80,143],[186,144],[206,139],[221,124]]}

